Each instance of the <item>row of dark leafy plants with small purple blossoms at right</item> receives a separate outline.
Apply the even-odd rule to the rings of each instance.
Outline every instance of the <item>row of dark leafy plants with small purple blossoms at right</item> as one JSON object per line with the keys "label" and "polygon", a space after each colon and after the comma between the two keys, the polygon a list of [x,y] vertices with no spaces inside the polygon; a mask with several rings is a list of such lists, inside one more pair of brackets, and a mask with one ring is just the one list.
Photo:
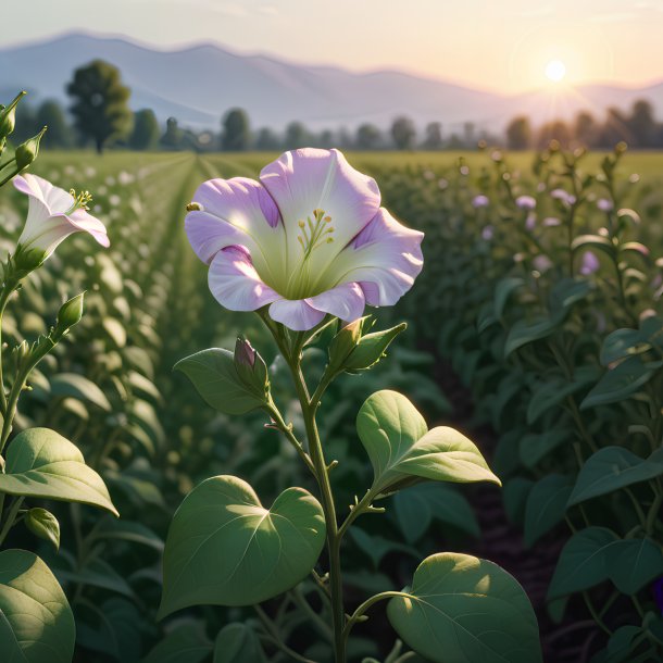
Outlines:
{"label": "row of dark leafy plants with small purple blossoms at right", "polygon": [[498,435],[524,546],[565,541],[547,610],[587,615],[596,663],[663,655],[662,198],[625,150],[385,174],[427,230],[406,311]]}

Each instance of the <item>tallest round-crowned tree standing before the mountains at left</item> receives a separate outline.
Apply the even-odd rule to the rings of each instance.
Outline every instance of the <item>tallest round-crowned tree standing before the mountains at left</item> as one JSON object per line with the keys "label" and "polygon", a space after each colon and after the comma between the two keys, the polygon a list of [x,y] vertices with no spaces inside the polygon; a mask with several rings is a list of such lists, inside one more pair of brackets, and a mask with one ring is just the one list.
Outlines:
{"label": "tallest round-crowned tree standing before the mountains at left", "polygon": [[95,60],[77,68],[66,91],[73,100],[76,128],[95,141],[100,154],[107,145],[132,130],[134,114],[127,104],[132,91],[122,85],[120,71],[112,64]]}

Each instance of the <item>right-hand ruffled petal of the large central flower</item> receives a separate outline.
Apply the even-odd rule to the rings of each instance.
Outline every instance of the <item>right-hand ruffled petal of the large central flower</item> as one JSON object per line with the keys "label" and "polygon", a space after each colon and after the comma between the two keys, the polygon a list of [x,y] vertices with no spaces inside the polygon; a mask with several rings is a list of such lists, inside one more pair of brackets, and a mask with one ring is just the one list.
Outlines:
{"label": "right-hand ruffled petal of the large central flower", "polygon": [[422,271],[423,238],[381,208],[334,261],[333,277],[336,283],[360,283],[371,305],[392,305]]}

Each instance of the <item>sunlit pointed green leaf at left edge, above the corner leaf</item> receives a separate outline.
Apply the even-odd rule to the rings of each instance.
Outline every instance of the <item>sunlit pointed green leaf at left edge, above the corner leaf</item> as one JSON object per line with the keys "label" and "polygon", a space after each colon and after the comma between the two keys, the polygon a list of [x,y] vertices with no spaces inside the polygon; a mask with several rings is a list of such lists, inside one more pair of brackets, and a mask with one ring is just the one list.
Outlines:
{"label": "sunlit pointed green leaf at left edge, above the corner leaf", "polygon": [[28,428],[10,443],[0,492],[80,502],[120,515],[103,479],[85,464],[78,448],[49,428]]}

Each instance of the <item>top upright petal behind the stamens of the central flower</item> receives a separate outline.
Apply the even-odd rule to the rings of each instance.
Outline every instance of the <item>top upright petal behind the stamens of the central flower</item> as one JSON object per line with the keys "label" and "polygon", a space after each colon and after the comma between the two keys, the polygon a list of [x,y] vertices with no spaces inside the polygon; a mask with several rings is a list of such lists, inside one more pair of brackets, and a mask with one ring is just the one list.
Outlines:
{"label": "top upright petal behind the stamens of the central flower", "polygon": [[280,210],[290,265],[301,257],[298,223],[312,217],[313,210],[324,210],[334,228],[334,241],[314,252],[316,265],[323,271],[375,216],[380,203],[375,179],[355,171],[338,150],[285,152],[262,170],[260,179]]}

